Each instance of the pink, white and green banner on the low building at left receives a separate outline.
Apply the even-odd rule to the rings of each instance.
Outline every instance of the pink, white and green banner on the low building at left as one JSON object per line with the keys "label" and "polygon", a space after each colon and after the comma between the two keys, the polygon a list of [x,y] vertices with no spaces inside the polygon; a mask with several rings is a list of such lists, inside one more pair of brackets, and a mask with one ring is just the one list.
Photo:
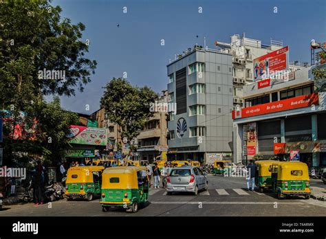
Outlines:
{"label": "pink, white and green banner on the low building at left", "polygon": [[107,145],[107,129],[91,128],[86,126],[70,126],[70,133],[66,135],[70,144]]}

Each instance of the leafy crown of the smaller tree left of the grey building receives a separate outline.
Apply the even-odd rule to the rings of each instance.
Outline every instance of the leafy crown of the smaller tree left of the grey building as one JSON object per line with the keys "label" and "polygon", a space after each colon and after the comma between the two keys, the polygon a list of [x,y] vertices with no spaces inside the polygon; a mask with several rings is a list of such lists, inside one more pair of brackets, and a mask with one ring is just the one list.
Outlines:
{"label": "leafy crown of the smaller tree left of the grey building", "polygon": [[153,116],[150,106],[158,95],[149,87],[133,87],[121,78],[113,78],[104,89],[100,104],[105,109],[105,117],[118,124],[121,136],[130,141],[139,135],[144,122]]}

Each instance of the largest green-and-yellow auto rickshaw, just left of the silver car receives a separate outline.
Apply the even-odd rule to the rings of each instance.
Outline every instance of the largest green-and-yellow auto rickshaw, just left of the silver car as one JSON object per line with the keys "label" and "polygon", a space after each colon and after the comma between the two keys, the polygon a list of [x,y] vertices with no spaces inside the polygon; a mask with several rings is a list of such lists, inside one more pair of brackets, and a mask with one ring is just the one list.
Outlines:
{"label": "largest green-and-yellow auto rickshaw, just left of the silver car", "polygon": [[149,179],[146,167],[113,167],[102,174],[102,211],[109,207],[123,207],[127,212],[137,212],[138,205],[149,198]]}

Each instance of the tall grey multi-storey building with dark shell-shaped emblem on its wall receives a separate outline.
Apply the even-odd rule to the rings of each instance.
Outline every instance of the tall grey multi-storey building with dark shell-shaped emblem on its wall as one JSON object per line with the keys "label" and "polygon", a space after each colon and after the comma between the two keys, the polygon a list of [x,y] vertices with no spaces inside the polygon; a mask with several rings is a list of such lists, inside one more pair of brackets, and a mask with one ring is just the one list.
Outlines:
{"label": "tall grey multi-storey building with dark shell-shaped emblem on its wall", "polygon": [[232,56],[195,46],[167,65],[168,159],[210,163],[232,151]]}

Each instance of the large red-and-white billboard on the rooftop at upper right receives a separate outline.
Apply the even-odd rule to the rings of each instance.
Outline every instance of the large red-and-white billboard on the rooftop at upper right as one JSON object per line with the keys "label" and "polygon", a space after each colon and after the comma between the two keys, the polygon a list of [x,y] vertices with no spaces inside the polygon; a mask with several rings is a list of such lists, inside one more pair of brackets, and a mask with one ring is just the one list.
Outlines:
{"label": "large red-and-white billboard on the rooftop at upper right", "polygon": [[254,81],[270,78],[272,73],[287,70],[289,67],[288,52],[289,47],[283,47],[254,59]]}

